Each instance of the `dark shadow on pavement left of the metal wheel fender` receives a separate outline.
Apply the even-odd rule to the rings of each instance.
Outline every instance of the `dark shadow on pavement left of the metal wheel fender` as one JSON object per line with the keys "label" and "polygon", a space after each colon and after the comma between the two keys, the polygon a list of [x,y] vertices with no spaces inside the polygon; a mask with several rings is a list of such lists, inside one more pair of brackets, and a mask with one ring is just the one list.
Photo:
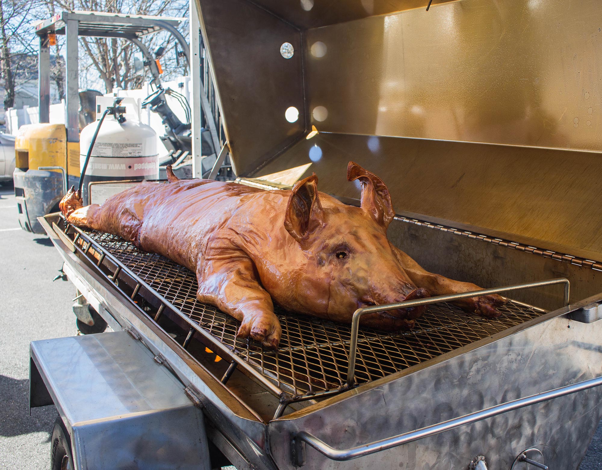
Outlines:
{"label": "dark shadow on pavement left of the metal wheel fender", "polygon": [[45,432],[46,442],[50,442],[57,409],[54,406],[33,408],[29,416],[29,379],[0,375],[0,396],[0,436]]}

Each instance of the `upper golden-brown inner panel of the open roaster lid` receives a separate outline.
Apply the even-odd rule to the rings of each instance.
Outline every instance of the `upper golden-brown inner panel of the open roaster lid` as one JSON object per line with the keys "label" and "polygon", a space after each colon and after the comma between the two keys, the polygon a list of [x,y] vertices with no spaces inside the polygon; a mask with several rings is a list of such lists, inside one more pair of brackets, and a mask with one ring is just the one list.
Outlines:
{"label": "upper golden-brown inner panel of the open roaster lid", "polygon": [[[329,52],[306,60],[309,106],[329,109],[328,132],[602,150],[588,112],[600,4],[524,6],[463,0],[309,29],[307,47]],[[550,29],[558,14],[579,26]]]}

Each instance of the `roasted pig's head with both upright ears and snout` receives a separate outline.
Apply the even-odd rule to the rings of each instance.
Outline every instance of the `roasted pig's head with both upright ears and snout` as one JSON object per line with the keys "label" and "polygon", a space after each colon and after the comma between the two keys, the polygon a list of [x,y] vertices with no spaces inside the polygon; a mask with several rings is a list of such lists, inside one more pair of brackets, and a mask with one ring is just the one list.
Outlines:
{"label": "roasted pig's head with both upright ears and snout", "polygon": [[[361,207],[318,193],[315,174],[294,185],[284,226],[302,260],[288,277],[287,304],[332,320],[349,321],[359,307],[428,297],[409,279],[386,237],[393,219],[382,180],[356,163],[347,180],[361,183]],[[367,314],[362,323],[380,329],[411,326],[424,307]]]}

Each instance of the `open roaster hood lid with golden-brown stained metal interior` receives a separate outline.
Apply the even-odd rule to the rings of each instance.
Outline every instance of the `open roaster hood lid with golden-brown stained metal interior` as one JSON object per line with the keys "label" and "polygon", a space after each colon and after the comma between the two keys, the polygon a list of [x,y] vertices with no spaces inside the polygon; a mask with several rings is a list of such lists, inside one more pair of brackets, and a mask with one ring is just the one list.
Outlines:
{"label": "open roaster hood lid with golden-brown stained metal interior", "polygon": [[239,176],[602,260],[602,3],[197,2]]}

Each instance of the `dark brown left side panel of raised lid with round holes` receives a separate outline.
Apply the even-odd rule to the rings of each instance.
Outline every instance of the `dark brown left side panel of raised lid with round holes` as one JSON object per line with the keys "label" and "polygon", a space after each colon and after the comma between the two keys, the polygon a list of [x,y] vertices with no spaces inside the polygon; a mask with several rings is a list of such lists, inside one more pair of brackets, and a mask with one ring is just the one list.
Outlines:
{"label": "dark brown left side panel of raised lid with round holes", "polygon": [[[298,1],[293,3],[305,13]],[[301,34],[292,23],[250,2],[197,0],[197,7],[234,168],[248,174],[303,138],[308,126]],[[290,59],[279,53],[283,42],[297,51]],[[299,109],[294,123],[283,116],[289,106]],[[249,127],[253,132],[237,130]]]}

